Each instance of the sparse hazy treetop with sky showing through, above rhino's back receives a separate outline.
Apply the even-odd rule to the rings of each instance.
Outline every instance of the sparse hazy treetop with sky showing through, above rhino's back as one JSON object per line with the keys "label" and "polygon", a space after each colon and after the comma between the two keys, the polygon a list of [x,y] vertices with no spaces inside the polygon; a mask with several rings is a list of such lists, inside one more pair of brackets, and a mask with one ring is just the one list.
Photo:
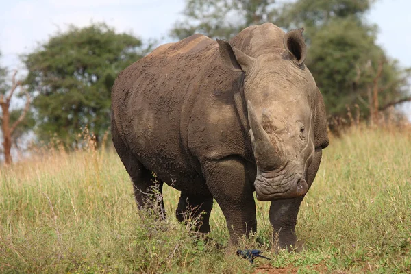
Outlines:
{"label": "sparse hazy treetop with sky showing through, above rhino's back", "polygon": [[187,0],[184,20],[170,34],[179,40],[195,33],[229,39],[249,25],[275,21],[276,8],[275,0]]}

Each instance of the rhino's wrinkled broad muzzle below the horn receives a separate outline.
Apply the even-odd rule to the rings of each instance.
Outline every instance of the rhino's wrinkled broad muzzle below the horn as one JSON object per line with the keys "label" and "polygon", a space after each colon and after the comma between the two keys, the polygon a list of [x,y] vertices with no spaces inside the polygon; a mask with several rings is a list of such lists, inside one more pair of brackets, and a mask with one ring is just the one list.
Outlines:
{"label": "rhino's wrinkled broad muzzle below the horn", "polygon": [[301,173],[288,177],[272,177],[267,173],[260,173],[254,181],[254,188],[259,201],[274,201],[305,195],[308,184]]}

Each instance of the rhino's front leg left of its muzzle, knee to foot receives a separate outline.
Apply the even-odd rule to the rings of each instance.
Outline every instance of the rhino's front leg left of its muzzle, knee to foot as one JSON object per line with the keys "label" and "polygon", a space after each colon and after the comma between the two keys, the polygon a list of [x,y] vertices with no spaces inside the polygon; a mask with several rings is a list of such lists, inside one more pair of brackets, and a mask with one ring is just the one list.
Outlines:
{"label": "rhino's front leg left of its muzzle, knee to foot", "polygon": [[257,231],[256,203],[245,162],[229,157],[203,164],[203,174],[227,221],[232,244]]}

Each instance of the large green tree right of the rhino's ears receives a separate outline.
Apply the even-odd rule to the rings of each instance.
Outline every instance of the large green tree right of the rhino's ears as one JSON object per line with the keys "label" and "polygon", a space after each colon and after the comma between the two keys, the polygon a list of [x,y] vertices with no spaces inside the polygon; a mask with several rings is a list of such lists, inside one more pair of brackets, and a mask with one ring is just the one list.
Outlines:
{"label": "large green tree right of the rhino's ears", "polygon": [[[323,92],[327,112],[343,116],[359,105],[373,120],[386,105],[408,101],[410,70],[401,69],[376,43],[377,27],[364,20],[370,0],[298,0],[284,6],[279,22],[304,27],[306,64]],[[380,102],[380,103],[379,103]]]}

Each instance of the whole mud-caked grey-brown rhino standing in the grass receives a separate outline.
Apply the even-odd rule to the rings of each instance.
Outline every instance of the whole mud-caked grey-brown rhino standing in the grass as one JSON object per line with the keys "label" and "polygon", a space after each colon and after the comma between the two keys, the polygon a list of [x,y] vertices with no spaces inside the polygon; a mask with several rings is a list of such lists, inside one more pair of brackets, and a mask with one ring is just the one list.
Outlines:
{"label": "whole mud-caked grey-brown rhino standing in the grass", "polygon": [[[181,191],[176,216],[205,212],[213,198],[233,243],[256,232],[256,205],[271,201],[277,247],[295,246],[300,203],[328,145],[323,98],[303,64],[302,29],[271,23],[231,42],[199,34],[162,45],[117,77],[112,138],[138,206],[153,206],[154,171]],[[164,215],[163,215],[164,217]]]}

